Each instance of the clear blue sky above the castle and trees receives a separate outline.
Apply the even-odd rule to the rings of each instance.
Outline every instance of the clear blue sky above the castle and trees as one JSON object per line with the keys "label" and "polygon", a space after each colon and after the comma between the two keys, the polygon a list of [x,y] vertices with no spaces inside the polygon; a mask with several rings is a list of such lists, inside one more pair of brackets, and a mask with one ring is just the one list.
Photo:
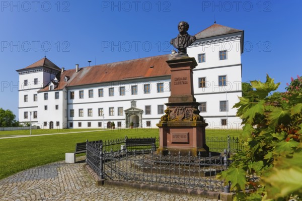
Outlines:
{"label": "clear blue sky above the castle and trees", "polygon": [[170,53],[179,21],[196,34],[244,30],[242,80],[301,75],[302,1],[1,1],[0,108],[18,117],[18,73],[46,56],[71,69]]}

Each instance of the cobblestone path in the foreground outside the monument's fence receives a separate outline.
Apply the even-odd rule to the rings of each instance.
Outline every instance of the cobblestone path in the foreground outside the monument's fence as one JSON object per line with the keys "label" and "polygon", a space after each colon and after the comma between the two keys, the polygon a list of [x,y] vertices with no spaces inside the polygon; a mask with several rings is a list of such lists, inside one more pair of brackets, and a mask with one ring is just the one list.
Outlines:
{"label": "cobblestone path in the foreground outside the monument's fence", "polygon": [[83,165],[61,161],[0,180],[0,200],[213,200],[151,190],[97,186]]}

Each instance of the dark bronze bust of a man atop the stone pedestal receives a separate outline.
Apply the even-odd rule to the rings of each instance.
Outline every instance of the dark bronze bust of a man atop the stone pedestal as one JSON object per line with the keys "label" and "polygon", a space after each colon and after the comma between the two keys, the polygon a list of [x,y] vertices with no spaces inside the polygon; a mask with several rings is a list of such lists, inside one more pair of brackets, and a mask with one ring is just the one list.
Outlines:
{"label": "dark bronze bust of a man atop the stone pedestal", "polygon": [[195,40],[195,36],[190,36],[187,31],[189,30],[189,24],[187,22],[180,22],[178,24],[179,34],[176,38],[171,39],[170,44],[178,49],[178,56],[188,56],[187,47],[190,46]]}

